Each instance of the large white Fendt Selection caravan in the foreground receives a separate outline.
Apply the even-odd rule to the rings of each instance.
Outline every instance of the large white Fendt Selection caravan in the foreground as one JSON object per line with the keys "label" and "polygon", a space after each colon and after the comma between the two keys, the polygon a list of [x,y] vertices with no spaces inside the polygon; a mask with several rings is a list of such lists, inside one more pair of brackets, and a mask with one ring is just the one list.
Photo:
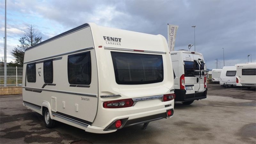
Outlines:
{"label": "large white Fendt Selection caravan in the foreground", "polygon": [[25,51],[23,105],[86,132],[173,115],[171,56],[162,35],[87,23]]}

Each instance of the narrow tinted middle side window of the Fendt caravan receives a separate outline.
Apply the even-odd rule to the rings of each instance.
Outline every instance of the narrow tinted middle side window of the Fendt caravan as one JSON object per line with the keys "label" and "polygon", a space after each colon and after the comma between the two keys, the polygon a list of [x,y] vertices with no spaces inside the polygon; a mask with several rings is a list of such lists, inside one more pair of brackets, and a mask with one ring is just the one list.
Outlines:
{"label": "narrow tinted middle side window of the Fendt caravan", "polygon": [[52,83],[53,81],[53,66],[52,60],[44,61],[44,83]]}

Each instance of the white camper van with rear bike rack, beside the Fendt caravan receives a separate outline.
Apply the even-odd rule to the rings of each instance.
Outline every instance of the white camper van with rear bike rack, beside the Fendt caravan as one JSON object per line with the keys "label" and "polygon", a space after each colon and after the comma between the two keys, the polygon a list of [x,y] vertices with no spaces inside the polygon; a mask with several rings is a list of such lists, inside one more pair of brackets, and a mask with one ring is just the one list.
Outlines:
{"label": "white camper van with rear bike rack, beside the Fendt caravan", "polygon": [[203,55],[199,52],[179,50],[171,52],[174,71],[175,101],[191,104],[194,100],[205,99],[208,71]]}

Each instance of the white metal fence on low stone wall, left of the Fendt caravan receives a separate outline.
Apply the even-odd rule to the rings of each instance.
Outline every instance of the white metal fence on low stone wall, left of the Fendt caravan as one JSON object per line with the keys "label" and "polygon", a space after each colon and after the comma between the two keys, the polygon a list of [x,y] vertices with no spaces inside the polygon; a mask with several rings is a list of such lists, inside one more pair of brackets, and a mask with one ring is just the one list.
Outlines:
{"label": "white metal fence on low stone wall, left of the Fendt caravan", "polygon": [[[22,72],[23,67],[7,67],[7,86],[21,86]],[[4,67],[0,67],[0,86],[4,86]]]}

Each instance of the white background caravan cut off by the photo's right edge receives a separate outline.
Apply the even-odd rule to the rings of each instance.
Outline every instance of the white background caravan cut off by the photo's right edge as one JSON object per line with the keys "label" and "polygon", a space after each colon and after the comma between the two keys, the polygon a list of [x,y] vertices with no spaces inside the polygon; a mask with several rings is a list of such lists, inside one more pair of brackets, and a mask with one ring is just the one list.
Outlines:
{"label": "white background caravan cut off by the photo's right edge", "polygon": [[256,86],[256,62],[236,65],[236,86]]}

